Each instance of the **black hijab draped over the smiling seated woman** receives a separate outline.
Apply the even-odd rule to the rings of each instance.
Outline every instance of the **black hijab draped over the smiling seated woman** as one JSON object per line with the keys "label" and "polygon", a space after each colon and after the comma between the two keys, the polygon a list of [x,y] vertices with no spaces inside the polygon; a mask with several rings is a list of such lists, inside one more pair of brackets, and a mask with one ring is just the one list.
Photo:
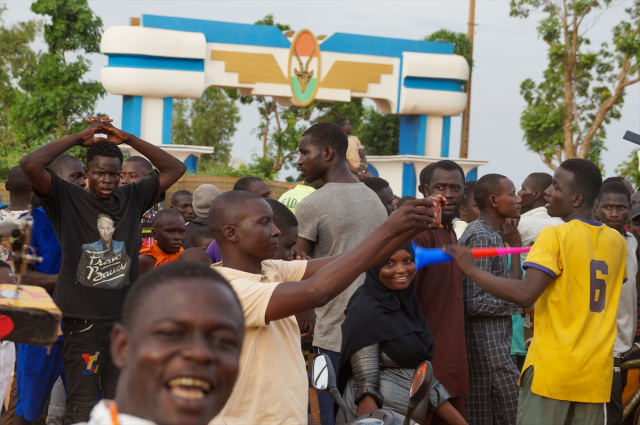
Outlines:
{"label": "black hijab draped over the smiling seated woman", "polygon": [[[403,249],[414,257],[411,242],[398,251]],[[387,261],[367,271],[364,284],[347,304],[346,318],[342,323],[338,373],[340,390],[352,374],[351,356],[369,345],[380,343],[385,354],[405,368],[415,368],[433,358],[433,336],[418,305],[415,279],[402,291],[387,288],[379,278],[380,270]]]}

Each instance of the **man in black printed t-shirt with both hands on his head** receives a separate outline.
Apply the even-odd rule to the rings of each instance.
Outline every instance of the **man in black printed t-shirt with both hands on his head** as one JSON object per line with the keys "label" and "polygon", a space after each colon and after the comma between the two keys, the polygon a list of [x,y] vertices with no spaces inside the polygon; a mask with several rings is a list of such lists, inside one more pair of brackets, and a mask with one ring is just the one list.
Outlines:
{"label": "man in black printed t-shirt with both hands on his head", "polygon": [[[88,120],[85,130],[47,143],[20,166],[51,219],[62,250],[54,292],[64,321],[63,362],[68,382],[65,423],[86,421],[100,389],[113,398],[118,378],[109,354],[111,329],[139,274],[140,217],[163,199],[186,166],[160,148],[111,125],[108,117]],[[94,140],[96,134],[105,139]],[[136,184],[118,187],[127,143],[158,169]],[[88,187],[57,176],[48,166],[75,146],[87,150]]]}

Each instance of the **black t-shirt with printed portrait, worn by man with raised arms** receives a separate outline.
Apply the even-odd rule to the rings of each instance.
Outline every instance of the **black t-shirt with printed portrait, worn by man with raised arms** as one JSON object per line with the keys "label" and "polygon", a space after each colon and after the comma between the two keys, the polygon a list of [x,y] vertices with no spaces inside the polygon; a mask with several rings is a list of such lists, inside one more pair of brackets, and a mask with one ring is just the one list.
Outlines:
{"label": "black t-shirt with printed portrait, worn by man with raised arms", "polygon": [[109,202],[49,174],[49,196],[36,196],[62,248],[54,300],[65,317],[118,320],[129,284],[140,274],[140,217],[164,200],[158,172],[118,187]]}

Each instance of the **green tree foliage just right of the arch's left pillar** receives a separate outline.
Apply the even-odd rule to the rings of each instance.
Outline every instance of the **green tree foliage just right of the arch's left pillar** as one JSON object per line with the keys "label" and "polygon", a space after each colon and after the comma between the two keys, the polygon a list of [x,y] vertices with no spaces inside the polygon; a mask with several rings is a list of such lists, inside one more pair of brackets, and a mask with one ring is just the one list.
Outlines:
{"label": "green tree foliage just right of the arch's left pillar", "polygon": [[231,153],[231,137],[240,122],[238,105],[224,89],[209,87],[201,99],[177,100],[173,107],[172,142],[178,145],[211,146],[202,155],[199,170],[225,165]]}

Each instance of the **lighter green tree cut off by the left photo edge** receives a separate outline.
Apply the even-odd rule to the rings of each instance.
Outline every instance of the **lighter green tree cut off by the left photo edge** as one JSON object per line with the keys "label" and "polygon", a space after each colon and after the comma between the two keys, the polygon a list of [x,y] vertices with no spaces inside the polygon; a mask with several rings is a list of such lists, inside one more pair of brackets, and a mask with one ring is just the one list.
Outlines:
{"label": "lighter green tree cut off by the left photo edge", "polygon": [[17,95],[14,82],[35,62],[36,54],[29,45],[40,27],[36,21],[6,27],[2,22],[5,11],[6,6],[0,7],[0,179],[3,180],[22,157],[20,144],[9,125],[9,113]]}

